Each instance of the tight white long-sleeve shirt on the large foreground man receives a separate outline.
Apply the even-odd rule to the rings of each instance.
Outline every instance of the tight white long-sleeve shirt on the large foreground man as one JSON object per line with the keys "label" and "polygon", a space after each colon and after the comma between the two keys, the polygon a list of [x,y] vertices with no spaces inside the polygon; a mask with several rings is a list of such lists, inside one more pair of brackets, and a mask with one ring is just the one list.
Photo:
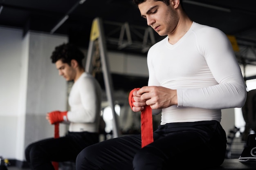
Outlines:
{"label": "tight white long-sleeve shirt on the large foreground man", "polygon": [[148,86],[177,89],[178,105],[162,109],[161,124],[221,120],[221,109],[242,107],[245,82],[231,43],[219,29],[193,22],[175,44],[168,36],[147,57]]}

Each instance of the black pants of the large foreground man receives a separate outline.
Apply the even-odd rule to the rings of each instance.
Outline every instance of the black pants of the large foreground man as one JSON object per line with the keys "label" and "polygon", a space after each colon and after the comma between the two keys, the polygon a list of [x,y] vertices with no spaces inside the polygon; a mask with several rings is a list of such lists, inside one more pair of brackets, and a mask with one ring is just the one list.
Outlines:
{"label": "black pants of the large foreground man", "polygon": [[141,136],[102,141],[83,149],[76,170],[170,170],[220,166],[227,138],[218,121],[169,123],[154,132],[154,142],[141,148]]}

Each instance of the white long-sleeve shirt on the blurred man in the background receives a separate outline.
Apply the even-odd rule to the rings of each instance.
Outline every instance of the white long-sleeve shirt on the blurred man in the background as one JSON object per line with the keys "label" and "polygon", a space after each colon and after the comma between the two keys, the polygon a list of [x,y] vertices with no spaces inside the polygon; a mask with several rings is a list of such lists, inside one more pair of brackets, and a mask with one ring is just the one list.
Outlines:
{"label": "white long-sleeve shirt on the blurred man in the background", "polygon": [[101,86],[89,73],[83,73],[74,82],[68,103],[70,111],[67,119],[70,121],[70,132],[98,132],[101,113]]}

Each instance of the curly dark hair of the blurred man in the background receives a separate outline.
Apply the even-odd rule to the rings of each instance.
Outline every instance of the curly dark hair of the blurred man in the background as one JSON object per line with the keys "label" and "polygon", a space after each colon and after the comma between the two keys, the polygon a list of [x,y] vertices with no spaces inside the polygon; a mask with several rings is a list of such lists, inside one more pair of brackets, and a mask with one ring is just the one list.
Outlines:
{"label": "curly dark hair of the blurred man in the background", "polygon": [[76,60],[81,68],[83,68],[82,60],[84,54],[73,44],[67,43],[55,47],[55,50],[52,52],[52,63],[56,63],[61,59],[63,63],[71,64],[71,60]]}

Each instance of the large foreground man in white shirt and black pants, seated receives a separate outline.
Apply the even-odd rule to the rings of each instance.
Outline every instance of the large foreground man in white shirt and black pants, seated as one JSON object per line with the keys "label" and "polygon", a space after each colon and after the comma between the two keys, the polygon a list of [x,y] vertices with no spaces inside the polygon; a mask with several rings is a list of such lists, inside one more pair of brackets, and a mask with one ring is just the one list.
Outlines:
{"label": "large foreground man in white shirt and black pants, seated", "polygon": [[[227,36],[193,22],[182,0],[133,0],[159,35],[147,56],[148,86],[132,92],[132,110],[162,114],[153,142],[141,136],[103,141],[82,150],[76,170],[207,169],[225,159],[221,109],[242,107],[245,82]],[[135,87],[137,88],[137,87]],[[103,157],[102,155],[105,155]]]}

